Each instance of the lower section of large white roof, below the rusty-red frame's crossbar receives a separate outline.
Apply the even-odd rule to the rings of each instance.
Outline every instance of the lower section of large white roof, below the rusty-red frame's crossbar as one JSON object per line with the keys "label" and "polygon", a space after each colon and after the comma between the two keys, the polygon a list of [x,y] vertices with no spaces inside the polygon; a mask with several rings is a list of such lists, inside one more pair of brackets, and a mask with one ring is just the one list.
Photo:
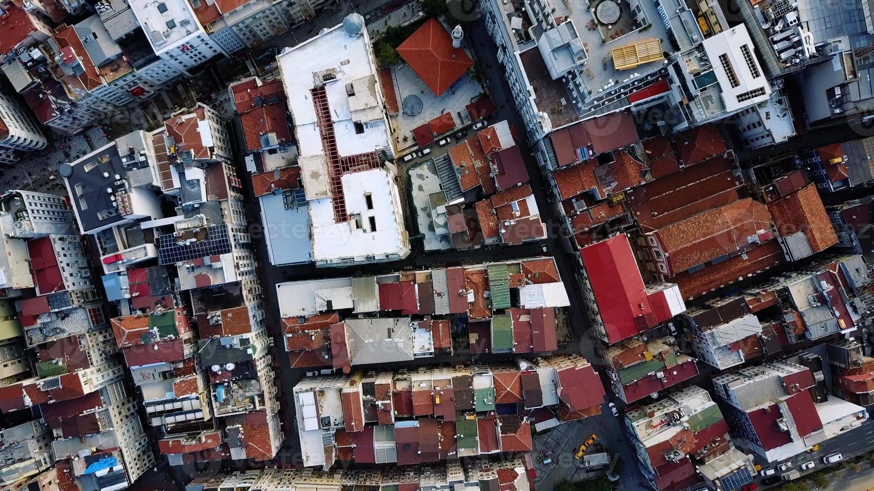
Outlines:
{"label": "lower section of large white roof, below the rusty-red frame's crossbar", "polygon": [[[404,235],[399,227],[399,201],[392,178],[383,169],[343,175],[348,222],[335,222],[330,198],[309,201],[313,224],[313,261],[333,261],[344,257],[406,256]],[[370,194],[372,208],[364,198]],[[361,215],[360,228],[351,217]],[[371,217],[376,225],[371,230]]]}

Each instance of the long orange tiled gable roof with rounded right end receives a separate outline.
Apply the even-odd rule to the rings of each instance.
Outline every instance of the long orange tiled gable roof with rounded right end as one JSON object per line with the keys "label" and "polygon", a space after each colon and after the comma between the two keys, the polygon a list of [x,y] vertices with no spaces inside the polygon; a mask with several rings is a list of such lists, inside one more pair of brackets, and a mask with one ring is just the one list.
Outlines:
{"label": "long orange tiled gable roof with rounded right end", "polygon": [[750,236],[757,235],[759,230],[769,231],[770,225],[768,208],[746,198],[661,228],[654,234],[667,256],[669,275],[673,276],[745,249],[751,243]]}

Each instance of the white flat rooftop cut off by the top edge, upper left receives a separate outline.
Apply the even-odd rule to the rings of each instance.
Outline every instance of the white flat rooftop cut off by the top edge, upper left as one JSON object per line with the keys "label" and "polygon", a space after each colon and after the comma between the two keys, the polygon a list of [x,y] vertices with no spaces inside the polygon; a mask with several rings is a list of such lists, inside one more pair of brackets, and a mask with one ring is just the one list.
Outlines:
{"label": "white flat rooftop cut off by the top edge, upper left", "polygon": [[203,30],[184,0],[128,0],[128,3],[156,53],[173,48],[179,41]]}

